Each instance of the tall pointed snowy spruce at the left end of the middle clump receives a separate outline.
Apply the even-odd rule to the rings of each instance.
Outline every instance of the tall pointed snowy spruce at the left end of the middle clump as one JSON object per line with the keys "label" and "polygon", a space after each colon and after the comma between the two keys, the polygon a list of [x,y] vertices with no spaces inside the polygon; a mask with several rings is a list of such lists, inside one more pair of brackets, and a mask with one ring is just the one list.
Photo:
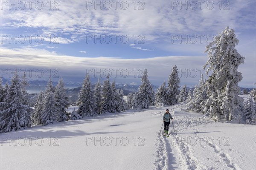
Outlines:
{"label": "tall pointed snowy spruce at the left end of the middle clump", "polygon": [[79,104],[79,109],[77,113],[84,118],[86,116],[95,116],[96,113],[96,101],[94,99],[93,90],[91,88],[90,76],[86,75],[82,88],[79,93],[79,99],[81,101]]}

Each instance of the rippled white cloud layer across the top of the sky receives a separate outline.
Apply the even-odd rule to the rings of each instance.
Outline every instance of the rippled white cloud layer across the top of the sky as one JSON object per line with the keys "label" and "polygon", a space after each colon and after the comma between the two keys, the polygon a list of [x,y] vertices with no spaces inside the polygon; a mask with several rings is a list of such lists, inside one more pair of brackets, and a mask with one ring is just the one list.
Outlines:
{"label": "rippled white cloud layer across the top of the sky", "polygon": [[130,1],[127,10],[120,3],[117,9],[113,4],[110,10],[86,9],[86,1],[79,0],[59,1],[59,10],[8,10],[7,6],[1,10],[1,27],[39,29],[39,34],[60,36],[59,43],[64,44],[84,40],[88,34],[144,35],[146,42],[159,42],[159,37],[171,34],[216,34],[226,26],[239,31],[255,28],[255,2],[250,0],[230,1],[230,10],[223,10],[224,4],[220,10],[217,1],[212,10],[206,3],[202,9],[198,4],[196,10],[180,10],[180,6],[173,8],[172,1],[143,2],[144,10],[134,10]]}

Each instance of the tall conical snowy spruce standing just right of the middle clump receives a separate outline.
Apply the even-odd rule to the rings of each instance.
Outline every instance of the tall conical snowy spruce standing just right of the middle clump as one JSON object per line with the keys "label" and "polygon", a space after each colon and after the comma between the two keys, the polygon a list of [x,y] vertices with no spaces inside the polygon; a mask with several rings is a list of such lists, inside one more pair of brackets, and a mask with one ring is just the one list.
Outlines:
{"label": "tall conical snowy spruce standing just right of the middle clump", "polygon": [[144,71],[141,82],[142,84],[140,85],[140,91],[136,97],[137,108],[148,109],[150,105],[154,105],[154,91],[152,85],[148,80],[147,69],[145,69]]}

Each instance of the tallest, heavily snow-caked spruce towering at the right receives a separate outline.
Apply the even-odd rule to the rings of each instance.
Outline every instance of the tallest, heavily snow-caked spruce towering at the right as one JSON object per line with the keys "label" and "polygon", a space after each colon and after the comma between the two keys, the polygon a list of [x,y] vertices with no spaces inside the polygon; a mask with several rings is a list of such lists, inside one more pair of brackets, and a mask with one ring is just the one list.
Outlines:
{"label": "tallest, heavily snow-caked spruce towering at the right", "polygon": [[244,63],[244,57],[236,51],[235,46],[239,40],[233,29],[227,27],[214,39],[206,46],[205,51],[208,51],[209,59],[204,68],[209,66],[206,73],[211,70],[212,75],[206,82],[209,99],[204,110],[212,119],[231,120],[241,115],[238,82],[241,81],[242,75],[237,69],[241,63]]}

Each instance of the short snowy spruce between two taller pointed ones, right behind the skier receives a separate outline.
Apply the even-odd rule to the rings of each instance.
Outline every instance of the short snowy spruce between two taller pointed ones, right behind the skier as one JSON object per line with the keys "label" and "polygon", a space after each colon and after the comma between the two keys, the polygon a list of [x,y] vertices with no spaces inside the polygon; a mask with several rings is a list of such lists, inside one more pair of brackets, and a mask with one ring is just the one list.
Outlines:
{"label": "short snowy spruce between two taller pointed ones, right behind the skier", "polygon": [[156,93],[156,107],[161,107],[168,105],[168,92],[166,89],[166,82],[164,81],[163,84],[160,86],[159,89],[157,89]]}

